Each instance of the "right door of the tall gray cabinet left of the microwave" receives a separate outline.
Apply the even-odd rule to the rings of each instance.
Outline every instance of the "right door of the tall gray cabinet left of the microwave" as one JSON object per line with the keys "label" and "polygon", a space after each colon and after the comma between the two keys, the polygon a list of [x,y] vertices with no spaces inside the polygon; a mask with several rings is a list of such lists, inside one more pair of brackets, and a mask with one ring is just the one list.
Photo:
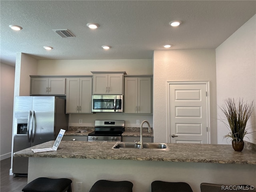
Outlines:
{"label": "right door of the tall gray cabinet left of the microwave", "polygon": [[92,113],[92,78],[80,78],[80,113]]}

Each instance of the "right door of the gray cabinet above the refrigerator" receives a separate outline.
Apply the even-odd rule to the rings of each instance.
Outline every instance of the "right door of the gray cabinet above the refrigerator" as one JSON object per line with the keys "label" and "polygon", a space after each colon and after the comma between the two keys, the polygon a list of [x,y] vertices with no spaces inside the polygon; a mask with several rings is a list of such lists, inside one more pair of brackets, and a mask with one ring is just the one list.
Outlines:
{"label": "right door of the gray cabinet above the refrigerator", "polygon": [[49,78],[49,95],[65,95],[65,78]]}

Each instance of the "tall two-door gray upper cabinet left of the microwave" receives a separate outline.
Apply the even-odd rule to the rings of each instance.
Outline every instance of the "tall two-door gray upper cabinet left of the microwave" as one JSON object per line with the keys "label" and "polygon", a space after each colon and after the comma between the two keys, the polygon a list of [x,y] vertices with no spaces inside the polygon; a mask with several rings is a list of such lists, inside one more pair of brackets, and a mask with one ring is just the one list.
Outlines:
{"label": "tall two-door gray upper cabinet left of the microwave", "polygon": [[66,113],[92,113],[92,78],[66,80]]}

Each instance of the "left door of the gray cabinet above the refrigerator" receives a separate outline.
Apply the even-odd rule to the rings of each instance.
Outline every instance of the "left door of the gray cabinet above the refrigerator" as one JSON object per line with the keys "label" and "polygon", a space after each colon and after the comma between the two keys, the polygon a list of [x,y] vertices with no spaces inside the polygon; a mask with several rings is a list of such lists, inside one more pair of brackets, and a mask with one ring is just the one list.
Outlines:
{"label": "left door of the gray cabinet above the refrigerator", "polygon": [[31,95],[48,94],[48,78],[31,78]]}

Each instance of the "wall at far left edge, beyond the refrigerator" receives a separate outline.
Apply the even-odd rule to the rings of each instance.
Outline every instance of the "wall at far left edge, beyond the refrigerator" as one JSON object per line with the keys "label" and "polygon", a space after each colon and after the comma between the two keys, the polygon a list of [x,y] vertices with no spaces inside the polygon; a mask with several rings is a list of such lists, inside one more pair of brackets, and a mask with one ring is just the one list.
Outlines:
{"label": "wall at far left edge, beyond the refrigerator", "polygon": [[15,67],[0,65],[0,160],[11,156]]}

